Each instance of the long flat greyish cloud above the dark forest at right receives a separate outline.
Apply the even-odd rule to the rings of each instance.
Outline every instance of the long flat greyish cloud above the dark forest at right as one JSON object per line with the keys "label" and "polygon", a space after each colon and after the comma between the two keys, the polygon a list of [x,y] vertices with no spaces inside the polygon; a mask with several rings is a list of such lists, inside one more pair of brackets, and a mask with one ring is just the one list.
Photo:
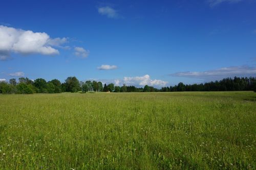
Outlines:
{"label": "long flat greyish cloud above the dark forest at right", "polygon": [[208,71],[185,71],[185,72],[176,72],[170,74],[170,76],[175,77],[186,77],[186,78],[199,78],[199,79],[222,79],[227,77],[250,77],[256,76],[256,67],[250,66],[232,66],[232,67],[223,67],[215,70]]}

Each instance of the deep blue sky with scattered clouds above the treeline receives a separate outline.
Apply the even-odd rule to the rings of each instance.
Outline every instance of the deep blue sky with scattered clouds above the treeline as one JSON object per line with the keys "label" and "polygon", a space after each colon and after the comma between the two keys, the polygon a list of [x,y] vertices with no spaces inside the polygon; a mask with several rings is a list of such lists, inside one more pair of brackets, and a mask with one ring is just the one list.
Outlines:
{"label": "deep blue sky with scattered clouds above the treeline", "polygon": [[0,4],[0,81],[160,88],[256,76],[256,0]]}

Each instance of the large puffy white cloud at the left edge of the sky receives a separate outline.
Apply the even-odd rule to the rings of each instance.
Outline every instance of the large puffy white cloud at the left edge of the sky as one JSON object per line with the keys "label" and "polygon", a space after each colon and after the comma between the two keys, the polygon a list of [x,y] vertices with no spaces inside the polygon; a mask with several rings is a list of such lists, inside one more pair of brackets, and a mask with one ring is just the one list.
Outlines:
{"label": "large puffy white cloud at the left edge of the sky", "polygon": [[51,39],[46,33],[0,26],[0,60],[9,59],[12,52],[23,55],[57,55],[59,51],[52,46],[66,42],[66,38]]}

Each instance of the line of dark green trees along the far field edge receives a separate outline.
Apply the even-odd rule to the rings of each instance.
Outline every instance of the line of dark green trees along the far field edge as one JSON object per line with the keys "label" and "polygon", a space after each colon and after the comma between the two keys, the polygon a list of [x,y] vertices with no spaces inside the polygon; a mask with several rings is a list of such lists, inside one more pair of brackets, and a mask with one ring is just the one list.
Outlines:
{"label": "line of dark green trees along the far field edge", "polygon": [[254,77],[234,77],[222,79],[220,81],[189,84],[180,82],[178,85],[162,87],[161,89],[145,85],[144,88],[135,86],[126,86],[123,84],[115,86],[113,83],[108,85],[97,81],[79,81],[76,77],[68,77],[64,83],[54,79],[46,81],[45,79],[36,79],[34,81],[28,78],[10,79],[8,82],[0,82],[0,93],[11,94],[32,94],[32,93],[61,93],[82,91],[110,91],[110,92],[170,92],[170,91],[256,91],[256,78]]}

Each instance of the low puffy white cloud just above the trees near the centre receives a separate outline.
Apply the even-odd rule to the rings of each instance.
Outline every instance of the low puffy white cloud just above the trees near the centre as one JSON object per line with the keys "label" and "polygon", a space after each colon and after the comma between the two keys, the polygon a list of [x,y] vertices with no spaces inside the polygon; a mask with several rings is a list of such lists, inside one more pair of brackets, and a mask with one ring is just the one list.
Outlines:
{"label": "low puffy white cloud just above the trees near the centre", "polygon": [[134,85],[134,86],[157,86],[162,87],[165,86],[168,82],[162,80],[151,80],[149,75],[145,75],[142,77],[124,77],[123,83],[126,85]]}

